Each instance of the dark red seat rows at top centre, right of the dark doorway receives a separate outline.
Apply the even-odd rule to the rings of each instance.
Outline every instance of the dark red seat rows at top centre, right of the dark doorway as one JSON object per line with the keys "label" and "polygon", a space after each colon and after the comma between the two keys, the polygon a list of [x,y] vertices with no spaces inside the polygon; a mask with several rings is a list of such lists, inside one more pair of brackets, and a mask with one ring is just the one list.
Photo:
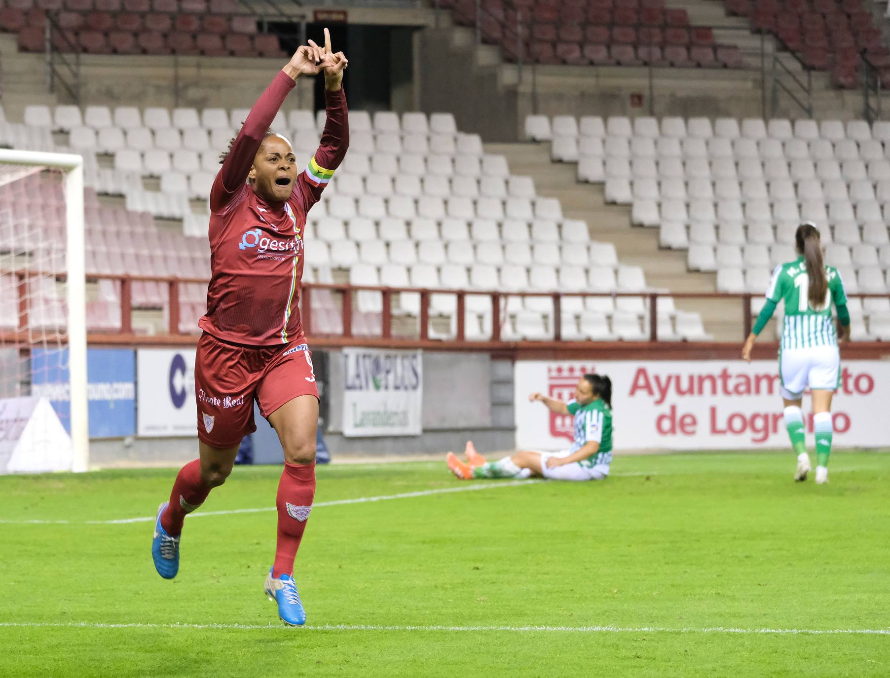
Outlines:
{"label": "dark red seat rows at top centre, right of the dark doorway", "polygon": [[[441,0],[457,24],[474,26],[475,0]],[[733,45],[716,44],[714,31],[689,25],[683,9],[665,7],[662,0],[559,3],[529,0],[522,8],[523,61],[540,64],[595,66],[674,66],[740,68],[741,54]],[[517,23],[513,8],[500,0],[482,0],[482,40],[499,44],[506,59],[517,59]]]}

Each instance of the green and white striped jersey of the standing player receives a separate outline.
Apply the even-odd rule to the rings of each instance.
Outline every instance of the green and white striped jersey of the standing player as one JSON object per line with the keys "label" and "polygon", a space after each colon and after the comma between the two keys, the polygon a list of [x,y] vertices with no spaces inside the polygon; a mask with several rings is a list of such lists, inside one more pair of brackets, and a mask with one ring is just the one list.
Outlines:
{"label": "green and white striped jersey of the standing player", "polygon": [[806,349],[812,346],[837,346],[837,330],[831,318],[831,303],[846,304],[844,281],[834,266],[825,267],[829,287],[825,301],[818,308],[809,303],[810,277],[806,274],[803,256],[783,263],[773,270],[766,298],[785,302],[785,320],[781,333],[783,349]]}

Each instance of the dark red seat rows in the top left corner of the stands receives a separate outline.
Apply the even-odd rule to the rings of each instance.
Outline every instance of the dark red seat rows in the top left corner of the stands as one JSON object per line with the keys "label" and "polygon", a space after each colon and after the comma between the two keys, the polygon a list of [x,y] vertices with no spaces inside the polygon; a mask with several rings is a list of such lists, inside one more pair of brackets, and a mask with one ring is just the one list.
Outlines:
{"label": "dark red seat rows in the top left corner of the stands", "polygon": [[43,52],[47,10],[68,40],[91,54],[203,54],[281,57],[277,36],[261,33],[235,0],[10,0],[0,7],[0,30],[18,35],[23,52]]}

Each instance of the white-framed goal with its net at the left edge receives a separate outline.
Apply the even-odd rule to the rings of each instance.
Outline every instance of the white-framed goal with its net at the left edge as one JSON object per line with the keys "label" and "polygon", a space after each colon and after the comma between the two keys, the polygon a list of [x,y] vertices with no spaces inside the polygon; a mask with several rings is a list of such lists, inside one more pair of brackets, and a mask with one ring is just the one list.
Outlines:
{"label": "white-framed goal with its net at the left edge", "polygon": [[0,473],[85,471],[83,158],[0,149]]}

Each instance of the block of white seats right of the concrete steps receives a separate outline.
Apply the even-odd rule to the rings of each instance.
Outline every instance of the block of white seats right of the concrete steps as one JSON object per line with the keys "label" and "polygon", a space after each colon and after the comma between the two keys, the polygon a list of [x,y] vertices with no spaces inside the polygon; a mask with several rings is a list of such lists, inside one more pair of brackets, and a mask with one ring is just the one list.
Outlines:
{"label": "block of white seats right of the concrete steps", "polygon": [[[549,140],[554,161],[577,157],[578,181],[604,183],[635,225],[687,251],[689,270],[716,271],[718,291],[762,295],[802,220],[848,292],[890,291],[887,123],[530,116],[525,133]],[[878,336],[871,315],[883,327],[886,300],[866,301],[850,304],[854,339]]]}

